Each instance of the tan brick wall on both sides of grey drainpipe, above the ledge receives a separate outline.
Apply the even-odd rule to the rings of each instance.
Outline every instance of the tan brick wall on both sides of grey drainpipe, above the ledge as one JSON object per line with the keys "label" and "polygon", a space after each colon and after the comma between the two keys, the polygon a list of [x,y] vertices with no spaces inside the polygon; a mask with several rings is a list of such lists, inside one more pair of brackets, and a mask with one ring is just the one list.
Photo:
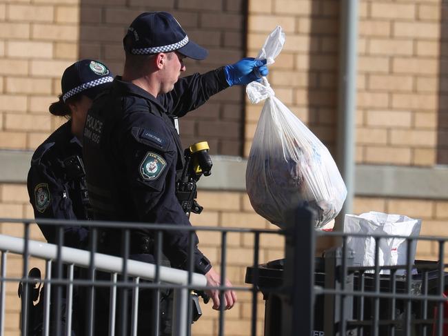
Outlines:
{"label": "tan brick wall on both sides of grey drainpipe, above the ledge", "polygon": [[[338,1],[250,1],[248,54],[281,25],[283,52],[271,67],[276,95],[334,152],[338,75]],[[434,1],[359,3],[356,161],[446,164],[445,6]],[[445,58],[444,58],[445,57]],[[439,95],[439,90],[440,95]],[[247,105],[245,154],[260,106]],[[438,159],[437,159],[438,157]]]}

